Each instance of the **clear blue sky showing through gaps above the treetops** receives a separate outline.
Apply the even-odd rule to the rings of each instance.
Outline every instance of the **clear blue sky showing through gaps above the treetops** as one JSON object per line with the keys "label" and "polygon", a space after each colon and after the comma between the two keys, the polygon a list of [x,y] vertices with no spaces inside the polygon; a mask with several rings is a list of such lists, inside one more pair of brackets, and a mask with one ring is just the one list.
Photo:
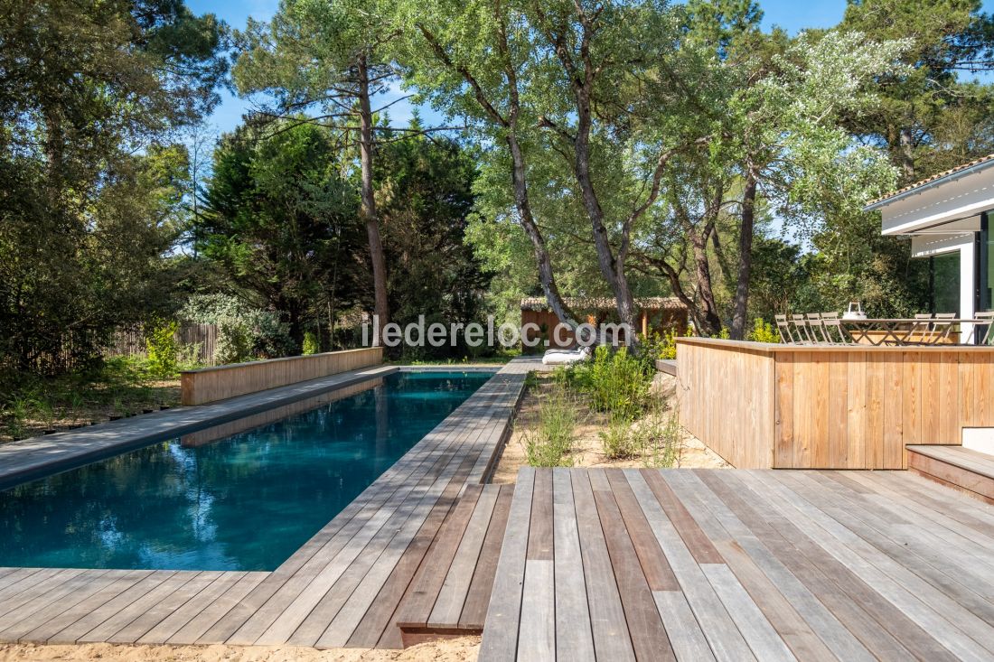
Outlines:
{"label": "clear blue sky showing through gaps above the treetops", "polygon": [[[245,27],[249,16],[257,20],[268,20],[279,6],[278,0],[187,0],[187,3],[195,13],[217,14],[235,28]],[[798,8],[798,0],[760,0],[759,4],[763,10],[764,27],[776,25],[785,28],[790,34],[803,28],[829,28],[842,20],[846,10],[845,0],[808,0],[803,3],[803,8]],[[983,5],[984,11],[994,11],[994,0],[985,0]],[[212,132],[231,131],[241,122],[247,108],[245,100],[224,92],[223,102],[208,118],[207,124]],[[404,101],[390,109],[392,119],[398,124],[407,123],[411,113],[411,106]],[[423,111],[422,115],[428,122],[434,119],[429,110]]]}

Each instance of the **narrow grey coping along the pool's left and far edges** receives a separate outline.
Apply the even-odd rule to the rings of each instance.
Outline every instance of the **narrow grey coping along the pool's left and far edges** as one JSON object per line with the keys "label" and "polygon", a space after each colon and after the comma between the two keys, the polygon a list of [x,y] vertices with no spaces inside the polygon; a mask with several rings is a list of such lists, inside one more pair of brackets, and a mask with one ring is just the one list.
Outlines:
{"label": "narrow grey coping along the pool's left and far edges", "polygon": [[175,407],[33,436],[0,444],[0,489],[72,469],[156,441],[176,438],[205,427],[290,405],[304,398],[337,391],[396,372],[498,372],[478,366],[381,365],[298,382],[228,400]]}

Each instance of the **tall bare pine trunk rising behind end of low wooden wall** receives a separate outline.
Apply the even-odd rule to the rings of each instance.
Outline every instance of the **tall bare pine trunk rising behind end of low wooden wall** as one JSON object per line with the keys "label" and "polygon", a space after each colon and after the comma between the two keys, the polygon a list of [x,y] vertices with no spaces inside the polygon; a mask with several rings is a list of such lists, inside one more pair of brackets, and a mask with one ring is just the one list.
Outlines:
{"label": "tall bare pine trunk rising behind end of low wooden wall", "polygon": [[370,103],[369,67],[366,56],[358,63],[359,70],[359,162],[361,166],[361,210],[366,221],[366,235],[370,243],[370,260],[373,263],[374,314],[379,316],[380,337],[390,319],[390,301],[387,298],[387,260],[380,239],[380,220],[373,197],[373,109]]}

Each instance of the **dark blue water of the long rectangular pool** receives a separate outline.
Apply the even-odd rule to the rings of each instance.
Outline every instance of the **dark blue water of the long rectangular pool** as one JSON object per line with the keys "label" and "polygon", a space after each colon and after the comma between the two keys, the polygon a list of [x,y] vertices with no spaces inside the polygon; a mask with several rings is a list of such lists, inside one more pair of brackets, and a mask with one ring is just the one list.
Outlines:
{"label": "dark blue water of the long rectangular pool", "polygon": [[4,490],[0,566],[274,570],[490,377],[395,373]]}

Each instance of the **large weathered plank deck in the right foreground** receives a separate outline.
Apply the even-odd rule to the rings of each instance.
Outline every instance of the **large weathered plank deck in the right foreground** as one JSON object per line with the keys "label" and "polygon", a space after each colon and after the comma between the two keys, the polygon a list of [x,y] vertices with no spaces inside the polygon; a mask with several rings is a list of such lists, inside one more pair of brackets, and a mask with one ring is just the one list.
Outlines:
{"label": "large weathered plank deck in the right foreground", "polygon": [[479,659],[991,660],[994,507],[907,471],[522,469]]}

